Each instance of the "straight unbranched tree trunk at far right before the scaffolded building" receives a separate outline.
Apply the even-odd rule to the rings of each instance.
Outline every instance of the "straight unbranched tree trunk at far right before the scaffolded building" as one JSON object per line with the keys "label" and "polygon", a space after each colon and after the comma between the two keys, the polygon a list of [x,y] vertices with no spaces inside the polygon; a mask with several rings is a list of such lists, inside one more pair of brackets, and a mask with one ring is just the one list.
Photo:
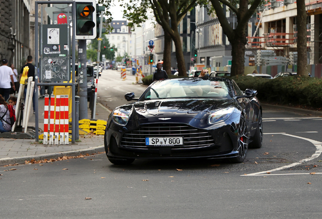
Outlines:
{"label": "straight unbranched tree trunk at far right before the scaffolded building", "polygon": [[306,33],[306,10],[305,0],[297,0],[297,75],[307,74],[307,33]]}

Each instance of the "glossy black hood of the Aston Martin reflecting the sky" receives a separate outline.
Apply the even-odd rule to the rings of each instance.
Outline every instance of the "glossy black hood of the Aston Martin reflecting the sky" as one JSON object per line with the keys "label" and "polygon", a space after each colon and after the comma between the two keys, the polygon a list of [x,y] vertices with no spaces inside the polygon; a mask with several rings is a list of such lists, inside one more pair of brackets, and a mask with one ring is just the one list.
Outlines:
{"label": "glossy black hood of the Aston Martin reflecting the sky", "polygon": [[167,118],[207,119],[210,113],[235,105],[236,103],[233,99],[168,99],[138,101],[117,108],[128,115],[131,114],[130,120],[149,118],[166,120]]}

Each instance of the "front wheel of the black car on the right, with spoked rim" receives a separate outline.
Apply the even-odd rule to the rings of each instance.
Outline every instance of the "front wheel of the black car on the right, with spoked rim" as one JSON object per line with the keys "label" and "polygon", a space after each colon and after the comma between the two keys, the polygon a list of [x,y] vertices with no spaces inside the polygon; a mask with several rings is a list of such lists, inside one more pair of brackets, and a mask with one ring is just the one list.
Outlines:
{"label": "front wheel of the black car on the right, with spoked rim", "polygon": [[249,135],[247,124],[244,116],[240,116],[240,121],[238,124],[238,139],[237,139],[237,157],[230,158],[232,163],[242,163],[244,162],[247,151],[248,151]]}

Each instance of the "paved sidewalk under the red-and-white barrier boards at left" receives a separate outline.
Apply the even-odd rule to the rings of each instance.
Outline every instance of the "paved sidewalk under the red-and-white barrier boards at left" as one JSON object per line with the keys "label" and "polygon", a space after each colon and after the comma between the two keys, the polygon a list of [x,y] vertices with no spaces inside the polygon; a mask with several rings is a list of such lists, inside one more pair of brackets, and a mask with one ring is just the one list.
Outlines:
{"label": "paved sidewalk under the red-and-white barrier boards at left", "polygon": [[[39,129],[44,128],[44,99],[38,99],[39,105]],[[107,120],[111,112],[102,106],[96,105],[96,119]],[[88,109],[88,118],[91,118],[91,111]],[[30,113],[28,126],[34,127],[34,115]],[[42,134],[39,132],[39,134]],[[105,152],[103,135],[79,135],[79,141],[75,144],[40,144],[34,139],[0,138],[0,166],[9,164],[24,164],[25,161],[50,160],[63,156],[78,156],[80,154],[94,154]]]}

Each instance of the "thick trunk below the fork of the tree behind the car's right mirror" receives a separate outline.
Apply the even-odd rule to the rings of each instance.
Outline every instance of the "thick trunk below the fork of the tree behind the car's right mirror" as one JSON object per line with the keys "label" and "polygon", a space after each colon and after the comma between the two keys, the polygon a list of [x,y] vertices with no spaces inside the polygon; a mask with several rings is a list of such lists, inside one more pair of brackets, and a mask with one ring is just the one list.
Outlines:
{"label": "thick trunk below the fork of the tree behind the car's right mirror", "polygon": [[245,44],[247,43],[245,31],[241,30],[239,32],[234,30],[233,40],[230,41],[231,44],[231,76],[243,75],[245,68]]}

